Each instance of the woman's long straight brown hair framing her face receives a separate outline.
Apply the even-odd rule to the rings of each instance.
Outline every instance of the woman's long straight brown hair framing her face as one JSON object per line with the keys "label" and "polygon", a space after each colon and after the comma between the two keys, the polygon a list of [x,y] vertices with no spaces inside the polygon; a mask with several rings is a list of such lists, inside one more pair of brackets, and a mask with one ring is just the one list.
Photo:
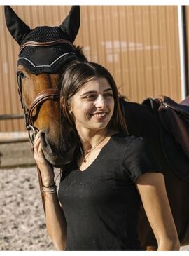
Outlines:
{"label": "woman's long straight brown hair framing her face", "polygon": [[[63,99],[63,102],[61,102],[62,118],[67,121],[69,126],[76,132],[73,116],[70,113],[70,98],[75,95],[85,83],[97,78],[105,78],[113,90],[114,111],[108,127],[128,134],[127,125],[120,109],[119,93],[116,83],[105,67],[94,62],[77,61],[72,63],[64,72],[60,92],[60,97]],[[62,127],[62,130],[63,129],[64,127]]]}

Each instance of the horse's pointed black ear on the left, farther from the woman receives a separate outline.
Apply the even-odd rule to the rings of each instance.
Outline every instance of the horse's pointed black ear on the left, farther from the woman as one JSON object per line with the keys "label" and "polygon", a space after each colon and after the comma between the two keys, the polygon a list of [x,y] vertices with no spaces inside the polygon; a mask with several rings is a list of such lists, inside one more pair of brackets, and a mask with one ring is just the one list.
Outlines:
{"label": "horse's pointed black ear on the left, farther from the woman", "polygon": [[10,6],[5,6],[6,26],[15,41],[20,45],[30,28],[23,22]]}

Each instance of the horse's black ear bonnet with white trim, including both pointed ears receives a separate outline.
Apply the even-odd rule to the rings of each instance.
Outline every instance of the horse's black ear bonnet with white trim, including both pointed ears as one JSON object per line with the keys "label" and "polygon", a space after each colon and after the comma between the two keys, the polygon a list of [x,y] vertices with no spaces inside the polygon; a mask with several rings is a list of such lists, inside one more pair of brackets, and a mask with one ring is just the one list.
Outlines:
{"label": "horse's black ear bonnet with white trim, including both pointed ears", "polygon": [[56,73],[65,62],[77,58],[75,48],[71,43],[73,43],[80,25],[78,6],[71,8],[69,15],[59,27],[43,26],[30,30],[10,6],[5,7],[5,15],[8,30],[20,47],[29,41],[45,43],[64,39],[70,42],[70,44],[61,42],[45,47],[25,46],[20,51],[18,65],[24,66],[32,74]]}

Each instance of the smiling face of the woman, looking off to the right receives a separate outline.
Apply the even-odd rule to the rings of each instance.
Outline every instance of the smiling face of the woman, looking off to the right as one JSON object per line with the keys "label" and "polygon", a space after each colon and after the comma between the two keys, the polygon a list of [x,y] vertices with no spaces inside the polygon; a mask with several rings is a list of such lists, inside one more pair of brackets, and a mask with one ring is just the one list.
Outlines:
{"label": "smiling face of the woman, looking off to the right", "polygon": [[92,79],[71,97],[77,130],[105,128],[113,116],[113,91],[105,78]]}

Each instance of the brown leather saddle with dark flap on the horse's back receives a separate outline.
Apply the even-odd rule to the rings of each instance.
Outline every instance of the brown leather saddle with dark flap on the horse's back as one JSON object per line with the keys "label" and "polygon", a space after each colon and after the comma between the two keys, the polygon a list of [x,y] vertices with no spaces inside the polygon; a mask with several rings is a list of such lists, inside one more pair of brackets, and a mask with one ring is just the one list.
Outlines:
{"label": "brown leather saddle with dark flap on the horse's back", "polygon": [[174,173],[189,181],[189,96],[180,103],[167,96],[147,98],[160,124],[162,150]]}

